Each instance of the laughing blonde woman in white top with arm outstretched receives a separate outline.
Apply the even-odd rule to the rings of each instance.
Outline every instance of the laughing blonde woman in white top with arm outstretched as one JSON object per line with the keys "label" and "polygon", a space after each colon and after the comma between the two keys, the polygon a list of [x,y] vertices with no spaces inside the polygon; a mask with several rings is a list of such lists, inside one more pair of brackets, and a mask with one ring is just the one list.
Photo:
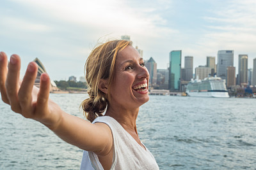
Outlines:
{"label": "laughing blonde woman in white top with arm outstretched", "polygon": [[82,148],[81,169],[159,169],[136,129],[139,107],[149,99],[149,75],[131,41],[104,43],[86,60],[90,98],[81,106],[93,124],[68,115],[49,99],[47,74],[42,74],[39,90],[33,86],[35,62],[29,63],[22,82],[19,70],[18,55],[11,56],[7,69],[6,54],[0,53],[4,103],[10,104],[16,113],[41,122],[67,143]]}

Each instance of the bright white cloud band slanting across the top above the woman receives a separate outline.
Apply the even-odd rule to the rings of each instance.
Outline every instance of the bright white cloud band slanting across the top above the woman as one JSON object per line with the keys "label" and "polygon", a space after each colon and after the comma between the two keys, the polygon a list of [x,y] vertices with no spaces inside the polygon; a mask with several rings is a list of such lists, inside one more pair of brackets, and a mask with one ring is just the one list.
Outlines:
{"label": "bright white cloud band slanting across the top above the woman", "polygon": [[[21,3],[21,1],[19,1]],[[158,27],[164,25],[164,20],[154,8],[134,8],[129,6],[124,0],[109,1],[32,1],[25,0],[27,3],[38,11],[44,9],[49,17],[57,18],[65,22],[84,27],[90,27],[95,31],[104,29],[105,32],[138,32],[156,36]],[[159,28],[161,29],[161,28]],[[155,32],[156,30],[156,32]],[[161,30],[163,31],[163,30]]]}

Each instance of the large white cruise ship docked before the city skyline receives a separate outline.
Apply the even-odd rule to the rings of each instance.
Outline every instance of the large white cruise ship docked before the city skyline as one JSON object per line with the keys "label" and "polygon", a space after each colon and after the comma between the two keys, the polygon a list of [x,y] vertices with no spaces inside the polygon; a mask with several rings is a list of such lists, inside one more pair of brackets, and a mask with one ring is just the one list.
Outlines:
{"label": "large white cruise ship docked before the city skyline", "polygon": [[220,77],[191,80],[187,85],[186,93],[193,97],[229,97],[226,81]]}

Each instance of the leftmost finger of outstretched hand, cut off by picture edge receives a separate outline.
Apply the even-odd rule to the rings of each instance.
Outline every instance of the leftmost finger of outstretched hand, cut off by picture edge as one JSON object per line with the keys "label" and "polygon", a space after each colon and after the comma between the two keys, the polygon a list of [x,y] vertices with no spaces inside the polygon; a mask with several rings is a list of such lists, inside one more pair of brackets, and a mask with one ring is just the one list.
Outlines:
{"label": "leftmost finger of outstretched hand, cut off by picture edge", "polygon": [[0,92],[3,102],[10,104],[5,88],[5,81],[8,72],[7,63],[7,55],[4,52],[0,52]]}

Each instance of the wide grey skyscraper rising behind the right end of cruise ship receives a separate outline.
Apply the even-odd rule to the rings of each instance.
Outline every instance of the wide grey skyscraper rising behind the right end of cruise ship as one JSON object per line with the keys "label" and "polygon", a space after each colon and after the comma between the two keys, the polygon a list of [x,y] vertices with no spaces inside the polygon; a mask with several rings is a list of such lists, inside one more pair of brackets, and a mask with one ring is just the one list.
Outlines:
{"label": "wide grey skyscraper rising behind the right end of cruise ship", "polygon": [[228,66],[234,66],[234,51],[233,50],[218,51],[217,75],[223,80],[226,80],[227,78]]}

